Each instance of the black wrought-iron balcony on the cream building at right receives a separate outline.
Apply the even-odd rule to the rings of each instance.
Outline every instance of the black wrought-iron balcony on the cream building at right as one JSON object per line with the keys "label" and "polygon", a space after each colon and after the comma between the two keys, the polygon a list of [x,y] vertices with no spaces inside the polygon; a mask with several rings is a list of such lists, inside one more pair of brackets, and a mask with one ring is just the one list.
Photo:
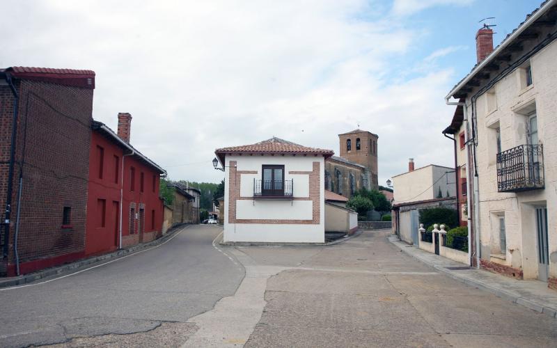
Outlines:
{"label": "black wrought-iron balcony on the cream building at right", "polygon": [[499,192],[520,192],[543,188],[543,145],[519,145],[497,154],[497,190]]}

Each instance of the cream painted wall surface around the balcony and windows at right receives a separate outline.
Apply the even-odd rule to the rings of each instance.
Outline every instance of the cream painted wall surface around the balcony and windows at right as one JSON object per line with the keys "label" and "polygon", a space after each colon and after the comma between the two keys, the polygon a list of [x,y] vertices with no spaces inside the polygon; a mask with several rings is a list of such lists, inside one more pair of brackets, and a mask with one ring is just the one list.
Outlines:
{"label": "cream painted wall surface around the balcony and windows at right", "polygon": [[[544,37],[544,34],[540,35]],[[524,278],[538,278],[538,242],[534,207],[547,205],[549,230],[549,276],[557,277],[557,42],[530,60],[533,84],[524,84],[520,68],[499,81],[489,92],[496,98],[488,107],[487,93],[476,102],[478,118],[478,188],[480,206],[480,243],[482,258],[524,271]],[[473,93],[471,93],[473,94]],[[471,100],[468,117],[471,116]],[[526,144],[526,114],[538,116],[538,136],[543,144],[545,189],[523,193],[499,193],[496,175],[494,127],[501,128],[501,149]],[[497,250],[499,231],[495,214],[504,214],[507,250]]]}

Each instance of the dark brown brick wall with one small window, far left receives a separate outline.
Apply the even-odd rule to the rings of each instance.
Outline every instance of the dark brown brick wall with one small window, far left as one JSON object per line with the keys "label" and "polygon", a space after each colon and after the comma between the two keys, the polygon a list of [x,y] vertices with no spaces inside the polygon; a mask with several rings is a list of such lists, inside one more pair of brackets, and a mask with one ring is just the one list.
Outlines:
{"label": "dark brown brick wall with one small window, far left", "polygon": [[[20,262],[80,255],[85,246],[93,90],[25,80],[17,81],[17,89],[20,100],[9,263],[15,261],[13,232],[20,168],[23,173]],[[5,135],[11,132],[12,111],[8,92],[1,87],[2,162],[9,160],[10,138]],[[1,207],[6,204],[7,171],[8,165],[2,164]],[[61,227],[64,207],[71,208],[70,228]]]}

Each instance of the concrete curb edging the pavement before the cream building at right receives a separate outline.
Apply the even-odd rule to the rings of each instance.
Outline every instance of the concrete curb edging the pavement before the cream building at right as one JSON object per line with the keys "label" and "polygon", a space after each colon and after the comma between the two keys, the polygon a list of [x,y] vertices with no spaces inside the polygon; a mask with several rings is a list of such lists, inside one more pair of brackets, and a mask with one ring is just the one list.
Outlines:
{"label": "concrete curb edging the pavement before the cream building at right", "polygon": [[[400,248],[400,246],[398,245],[397,242],[404,243],[395,235],[390,235],[390,236],[387,237],[387,239],[389,240],[389,242],[391,242],[391,244],[393,244],[397,248]],[[411,248],[414,248],[414,246],[411,246]],[[455,272],[446,269],[445,267],[439,266],[437,264],[432,264],[431,262],[427,262],[423,258],[419,258],[418,255],[414,255],[414,253],[409,253],[409,251],[407,251],[407,248],[400,248],[400,249],[401,249],[401,251],[404,251],[407,255],[410,255],[411,257],[415,258],[416,260],[418,260],[420,262],[423,262],[424,264],[427,264],[428,266],[433,267],[436,271],[440,271],[443,274],[446,274],[446,276],[449,276],[450,278],[453,278],[454,280],[458,280],[461,283],[464,283],[466,285],[477,287],[480,290],[485,290],[487,292],[491,292],[492,294],[494,294],[495,296],[497,296],[501,299],[505,299],[505,300],[511,301],[513,303],[517,303],[520,306],[524,306],[528,309],[535,310],[538,313],[543,313],[545,315],[549,315],[549,317],[557,319],[556,308],[542,306],[539,303],[531,301],[530,299],[527,299],[527,298],[522,297],[522,296],[517,296],[516,294],[513,294],[512,292],[502,290],[501,288],[492,287],[492,286],[487,285],[485,283],[482,283],[478,280],[464,278],[462,276],[459,276]]]}

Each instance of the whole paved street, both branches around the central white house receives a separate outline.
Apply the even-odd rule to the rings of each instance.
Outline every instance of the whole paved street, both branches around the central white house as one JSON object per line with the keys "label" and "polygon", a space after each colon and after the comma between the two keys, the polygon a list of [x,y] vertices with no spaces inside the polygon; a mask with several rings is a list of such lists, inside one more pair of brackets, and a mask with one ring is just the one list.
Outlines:
{"label": "whole paved street, both branches around the central white house", "polygon": [[220,231],[190,226],[139,255],[0,292],[0,345],[555,347],[556,319],[448,278],[389,231],[223,253]]}

